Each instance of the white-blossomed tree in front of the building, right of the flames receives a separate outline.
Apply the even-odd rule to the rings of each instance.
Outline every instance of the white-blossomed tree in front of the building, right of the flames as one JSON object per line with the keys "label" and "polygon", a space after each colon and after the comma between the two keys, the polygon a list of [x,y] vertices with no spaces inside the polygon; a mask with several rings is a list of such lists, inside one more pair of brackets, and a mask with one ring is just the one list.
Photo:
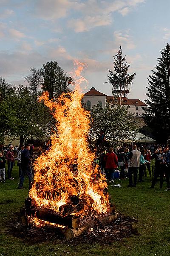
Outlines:
{"label": "white-blossomed tree in front of the building, right of the flames", "polygon": [[101,131],[104,132],[105,142],[110,145],[121,145],[136,135],[136,119],[129,113],[125,106],[113,106],[101,108],[93,106],[91,111],[90,141],[99,138]]}

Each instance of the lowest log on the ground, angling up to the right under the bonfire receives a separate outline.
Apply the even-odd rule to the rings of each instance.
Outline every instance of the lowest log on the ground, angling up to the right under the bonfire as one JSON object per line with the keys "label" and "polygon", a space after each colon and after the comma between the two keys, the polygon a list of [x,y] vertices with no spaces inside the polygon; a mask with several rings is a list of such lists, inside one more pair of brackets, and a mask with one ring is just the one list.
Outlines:
{"label": "lowest log on the ground, angling up to the right under the bonfire", "polygon": [[117,219],[117,214],[115,213],[115,215],[111,214],[111,215],[99,217],[97,219],[98,222],[96,220],[88,221],[87,223],[80,225],[77,230],[71,229],[71,228],[66,228],[64,230],[65,238],[67,240],[74,239],[77,236],[81,236],[84,233],[88,233],[88,231],[91,228],[97,227],[97,223],[102,226],[105,226],[105,225],[108,225],[109,223],[113,222],[116,219]]}

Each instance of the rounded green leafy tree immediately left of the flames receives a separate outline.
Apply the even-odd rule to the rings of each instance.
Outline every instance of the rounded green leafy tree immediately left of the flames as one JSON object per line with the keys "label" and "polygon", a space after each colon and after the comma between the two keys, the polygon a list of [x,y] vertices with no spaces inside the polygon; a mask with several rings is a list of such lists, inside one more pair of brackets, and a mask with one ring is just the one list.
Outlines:
{"label": "rounded green leafy tree immediately left of the flames", "polygon": [[48,108],[37,102],[27,87],[20,85],[9,102],[15,111],[17,123],[10,128],[10,134],[20,137],[20,145],[28,137],[42,138],[48,134],[51,115]]}

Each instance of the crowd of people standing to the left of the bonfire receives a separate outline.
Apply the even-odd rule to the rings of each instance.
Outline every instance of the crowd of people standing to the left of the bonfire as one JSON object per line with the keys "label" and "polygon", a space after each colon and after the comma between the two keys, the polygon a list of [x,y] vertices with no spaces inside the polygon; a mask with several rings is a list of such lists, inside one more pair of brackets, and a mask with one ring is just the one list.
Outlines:
{"label": "crowd of people standing to the left of the bonfire", "polygon": [[[49,143],[46,143],[44,151],[49,150]],[[25,175],[28,176],[29,189],[32,186],[32,178],[34,172],[34,160],[42,154],[42,147],[34,147],[32,144],[26,143],[26,145],[8,146],[0,145],[0,182],[6,182],[6,162],[7,162],[7,179],[14,180],[12,177],[12,170],[17,160],[18,166],[18,178],[20,183],[18,189],[24,189],[23,183]]]}

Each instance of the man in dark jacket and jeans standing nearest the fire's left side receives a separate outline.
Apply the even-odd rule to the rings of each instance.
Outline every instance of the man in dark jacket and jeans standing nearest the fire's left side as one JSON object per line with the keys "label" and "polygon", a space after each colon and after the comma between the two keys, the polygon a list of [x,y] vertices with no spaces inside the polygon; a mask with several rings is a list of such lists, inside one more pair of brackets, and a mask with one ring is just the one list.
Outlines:
{"label": "man in dark jacket and jeans standing nearest the fire's left side", "polygon": [[21,177],[20,177],[20,185],[18,189],[24,189],[23,183],[25,175],[28,176],[29,181],[29,189],[31,189],[32,186],[32,172],[31,172],[31,157],[30,157],[30,144],[26,144],[25,149],[21,152]]}

